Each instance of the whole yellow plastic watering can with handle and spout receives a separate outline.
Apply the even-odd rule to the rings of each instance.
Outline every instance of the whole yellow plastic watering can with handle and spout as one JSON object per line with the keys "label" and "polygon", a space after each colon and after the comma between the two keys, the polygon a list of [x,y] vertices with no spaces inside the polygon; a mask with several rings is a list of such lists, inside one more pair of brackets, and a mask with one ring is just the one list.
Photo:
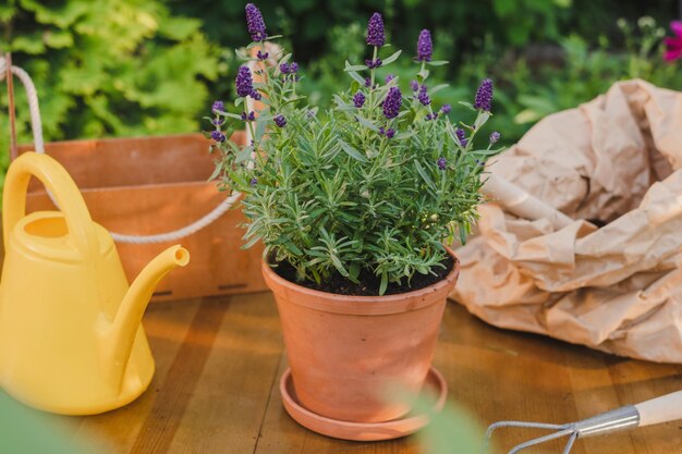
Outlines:
{"label": "whole yellow plastic watering can with handle and spout", "polygon": [[[32,175],[61,212],[26,216]],[[27,152],[10,165],[2,213],[0,385],[28,405],[66,415],[133,401],[154,375],[142,316],[157,283],[190,261],[187,250],[166,249],[129,289],[111,235],[46,155]]]}

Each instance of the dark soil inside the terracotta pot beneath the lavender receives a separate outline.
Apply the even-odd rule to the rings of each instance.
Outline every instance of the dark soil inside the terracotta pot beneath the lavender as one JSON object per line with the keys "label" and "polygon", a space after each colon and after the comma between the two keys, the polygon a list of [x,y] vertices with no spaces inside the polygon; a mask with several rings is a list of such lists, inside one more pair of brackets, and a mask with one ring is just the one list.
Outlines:
{"label": "dark soil inside the terracotta pot beneath the lavender", "polygon": [[[395,295],[400,293],[413,292],[415,290],[427,287],[438,281],[443,280],[450,273],[450,271],[452,271],[452,267],[454,267],[454,259],[448,256],[442,261],[442,265],[444,266],[444,268],[434,267],[431,269],[433,273],[416,273],[410,281],[410,283],[407,283],[406,279],[403,279],[401,284],[389,282],[385,295]],[[296,269],[292,267],[288,261],[277,262],[276,266],[272,266],[272,270],[280,278],[283,278],[289,282],[293,282],[307,289],[333,293],[337,295],[378,296],[379,285],[381,283],[381,279],[368,270],[363,270],[360,273],[360,283],[357,284],[349,281],[339,272],[334,272],[328,280],[321,282],[320,284],[309,280],[296,282]]]}

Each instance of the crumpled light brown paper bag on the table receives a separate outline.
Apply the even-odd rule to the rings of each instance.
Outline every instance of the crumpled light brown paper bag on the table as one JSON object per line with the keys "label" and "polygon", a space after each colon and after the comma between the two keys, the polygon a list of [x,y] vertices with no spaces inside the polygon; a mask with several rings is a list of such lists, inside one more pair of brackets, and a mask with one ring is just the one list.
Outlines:
{"label": "crumpled light brown paper bag on the table", "polygon": [[547,116],[488,170],[575,221],[482,206],[451,297],[500,328],[682,363],[681,167],[681,93],[620,82]]}

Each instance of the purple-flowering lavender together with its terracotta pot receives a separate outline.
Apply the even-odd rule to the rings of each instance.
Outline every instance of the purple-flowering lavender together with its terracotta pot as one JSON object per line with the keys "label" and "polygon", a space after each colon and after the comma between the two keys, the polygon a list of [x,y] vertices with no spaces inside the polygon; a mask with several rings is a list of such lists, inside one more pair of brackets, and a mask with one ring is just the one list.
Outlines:
{"label": "purple-flowering lavender together with its terracotta pot", "polygon": [[[446,298],[459,273],[443,242],[465,237],[483,201],[480,174],[499,152],[494,133],[484,148],[476,133],[490,118],[492,83],[467,105],[473,123],[453,123],[450,106],[436,109],[428,89],[428,30],[417,40],[414,81],[376,69],[385,56],[381,15],[369,20],[365,64],[345,62],[350,88],[318,112],[297,91],[290,53],[265,51],[258,9],[246,5],[258,52],[240,57],[235,106],[214,103],[210,118],[221,188],[243,193],[245,247],[265,244],[263,273],[275,292],[297,401],[341,421],[380,422],[409,408],[379,391],[399,382],[418,391],[429,373]],[[276,64],[266,64],[275,59]],[[254,76],[260,82],[255,83]],[[249,111],[247,98],[264,108]],[[228,120],[251,131],[251,145],[226,140]],[[447,244],[447,243],[446,243]]]}

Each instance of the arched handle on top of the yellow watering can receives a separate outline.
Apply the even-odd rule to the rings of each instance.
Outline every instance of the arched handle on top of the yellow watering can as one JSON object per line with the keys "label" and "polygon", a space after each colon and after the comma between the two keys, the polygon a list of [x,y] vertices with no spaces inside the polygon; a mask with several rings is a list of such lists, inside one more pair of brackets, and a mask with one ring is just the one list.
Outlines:
{"label": "arched handle on top of the yellow watering can", "polygon": [[54,194],[76,249],[83,256],[98,250],[93,219],[78,187],[59,162],[33,151],[16,158],[4,180],[2,234],[5,247],[14,225],[26,216],[26,192],[32,176]]}

